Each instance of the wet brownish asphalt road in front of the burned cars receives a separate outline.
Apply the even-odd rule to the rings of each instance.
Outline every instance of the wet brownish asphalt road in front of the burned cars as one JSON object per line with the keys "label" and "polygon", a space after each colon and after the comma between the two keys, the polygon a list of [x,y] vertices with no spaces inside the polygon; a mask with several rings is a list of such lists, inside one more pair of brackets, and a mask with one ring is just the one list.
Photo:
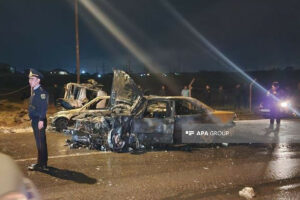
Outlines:
{"label": "wet brownish asphalt road in front of the burned cars", "polygon": [[[268,125],[239,123],[261,134]],[[243,199],[238,192],[245,186],[254,188],[255,199],[300,199],[300,144],[291,140],[300,137],[294,131],[300,121],[283,120],[281,126],[278,144],[202,144],[192,151],[136,154],[69,149],[67,136],[49,132],[49,173],[26,169],[36,157],[32,133],[0,133],[0,151],[16,160],[43,199]]]}

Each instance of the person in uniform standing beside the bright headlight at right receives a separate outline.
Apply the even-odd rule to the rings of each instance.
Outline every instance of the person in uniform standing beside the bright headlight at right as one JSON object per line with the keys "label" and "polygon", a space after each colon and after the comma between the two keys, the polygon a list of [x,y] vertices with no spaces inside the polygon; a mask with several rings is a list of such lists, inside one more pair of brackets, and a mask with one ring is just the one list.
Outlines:
{"label": "person in uniform standing beside the bright headlight at right", "polygon": [[[276,99],[277,98],[277,99]],[[270,109],[270,125],[274,125],[276,119],[277,125],[280,124],[280,108],[278,106],[278,100],[283,98],[283,92],[279,90],[279,83],[274,81],[271,89],[267,92],[267,102]]]}

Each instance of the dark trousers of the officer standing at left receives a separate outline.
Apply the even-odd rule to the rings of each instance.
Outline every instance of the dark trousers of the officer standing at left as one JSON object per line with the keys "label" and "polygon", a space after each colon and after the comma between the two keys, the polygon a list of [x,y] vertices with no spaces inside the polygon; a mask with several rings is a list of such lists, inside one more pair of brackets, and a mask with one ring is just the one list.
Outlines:
{"label": "dark trousers of the officer standing at left", "polygon": [[34,133],[35,143],[38,150],[37,163],[40,166],[47,166],[48,161],[48,150],[47,150],[47,139],[46,139],[46,128],[47,120],[44,120],[44,127],[39,130],[38,128],[39,119],[32,119],[31,126]]}

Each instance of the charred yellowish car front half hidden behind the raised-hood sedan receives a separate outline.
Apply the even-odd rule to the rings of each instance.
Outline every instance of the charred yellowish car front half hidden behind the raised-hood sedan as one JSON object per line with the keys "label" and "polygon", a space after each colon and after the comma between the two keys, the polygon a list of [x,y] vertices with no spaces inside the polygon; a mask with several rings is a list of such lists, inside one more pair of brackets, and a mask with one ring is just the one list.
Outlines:
{"label": "charred yellowish car front half hidden behind the raised-hood sedan", "polygon": [[73,118],[80,115],[86,117],[91,114],[107,112],[109,96],[99,96],[82,106],[81,108],[63,110],[50,117],[51,127],[57,131],[62,131],[74,123]]}

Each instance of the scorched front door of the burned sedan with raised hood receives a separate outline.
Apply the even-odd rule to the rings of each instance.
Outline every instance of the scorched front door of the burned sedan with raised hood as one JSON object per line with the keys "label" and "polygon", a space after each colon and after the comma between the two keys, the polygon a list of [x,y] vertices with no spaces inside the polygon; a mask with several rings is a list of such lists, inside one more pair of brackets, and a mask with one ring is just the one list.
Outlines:
{"label": "scorched front door of the burned sedan with raised hood", "polygon": [[148,100],[144,113],[133,119],[132,132],[140,142],[172,144],[174,133],[174,101]]}

